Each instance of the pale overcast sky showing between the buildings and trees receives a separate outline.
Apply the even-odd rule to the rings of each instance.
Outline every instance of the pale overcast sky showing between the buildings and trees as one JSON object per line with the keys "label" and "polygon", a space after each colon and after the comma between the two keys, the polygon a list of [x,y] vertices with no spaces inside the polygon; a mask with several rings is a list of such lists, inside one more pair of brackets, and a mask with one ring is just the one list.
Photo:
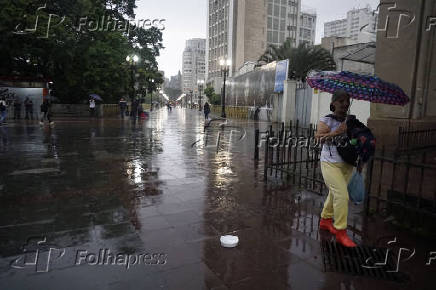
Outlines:
{"label": "pale overcast sky showing between the buildings and trees", "polygon": [[[247,0],[250,1],[250,0]],[[165,49],[158,58],[159,69],[170,77],[182,69],[185,41],[206,38],[206,4],[208,0],[140,0],[136,19],[166,19],[163,39]],[[302,5],[316,9],[318,15],[316,43],[321,42],[324,22],[345,18],[348,10],[367,4],[375,9],[379,0],[302,0]]]}

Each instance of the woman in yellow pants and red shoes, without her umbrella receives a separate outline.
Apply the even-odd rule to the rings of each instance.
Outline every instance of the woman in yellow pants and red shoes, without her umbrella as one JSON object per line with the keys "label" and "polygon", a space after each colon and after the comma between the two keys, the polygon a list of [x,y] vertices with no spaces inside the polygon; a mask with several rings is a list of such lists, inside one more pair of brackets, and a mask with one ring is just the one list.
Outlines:
{"label": "woman in yellow pants and red shoes, without her umbrella", "polygon": [[319,228],[336,235],[336,242],[345,247],[356,244],[347,235],[348,183],[353,174],[353,165],[339,155],[335,137],[346,133],[346,117],[350,107],[350,96],[337,90],[332,97],[330,110],[333,114],[320,118],[315,137],[322,143],[321,172],[329,194],[321,213]]}

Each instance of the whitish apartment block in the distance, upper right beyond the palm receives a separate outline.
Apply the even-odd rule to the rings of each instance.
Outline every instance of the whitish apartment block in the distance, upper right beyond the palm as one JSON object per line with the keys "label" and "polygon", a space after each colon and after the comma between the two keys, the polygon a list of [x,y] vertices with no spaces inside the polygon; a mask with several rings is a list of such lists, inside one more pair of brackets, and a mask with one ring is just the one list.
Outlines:
{"label": "whitish apartment block in the distance, upper right beyond the palm", "polygon": [[347,18],[324,23],[324,37],[349,37],[355,43],[376,41],[377,14],[370,6],[347,12]]}

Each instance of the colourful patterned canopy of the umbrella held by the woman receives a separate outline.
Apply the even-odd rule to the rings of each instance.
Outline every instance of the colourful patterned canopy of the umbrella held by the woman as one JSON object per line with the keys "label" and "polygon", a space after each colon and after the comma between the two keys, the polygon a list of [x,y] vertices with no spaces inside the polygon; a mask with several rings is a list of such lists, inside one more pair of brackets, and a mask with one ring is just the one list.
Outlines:
{"label": "colourful patterned canopy of the umbrella held by the woman", "polygon": [[351,98],[371,103],[404,106],[409,102],[409,97],[399,86],[375,76],[324,71],[309,75],[307,83],[312,88],[329,93],[344,89]]}

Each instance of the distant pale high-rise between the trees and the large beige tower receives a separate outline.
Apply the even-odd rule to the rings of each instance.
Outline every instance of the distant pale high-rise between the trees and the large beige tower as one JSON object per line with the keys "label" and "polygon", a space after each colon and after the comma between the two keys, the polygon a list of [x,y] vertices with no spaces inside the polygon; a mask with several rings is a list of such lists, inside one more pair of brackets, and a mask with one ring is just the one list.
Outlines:
{"label": "distant pale high-rise between the trees and the large beige tower", "polygon": [[194,38],[186,41],[183,51],[182,92],[189,93],[197,88],[197,81],[206,75],[206,39]]}

